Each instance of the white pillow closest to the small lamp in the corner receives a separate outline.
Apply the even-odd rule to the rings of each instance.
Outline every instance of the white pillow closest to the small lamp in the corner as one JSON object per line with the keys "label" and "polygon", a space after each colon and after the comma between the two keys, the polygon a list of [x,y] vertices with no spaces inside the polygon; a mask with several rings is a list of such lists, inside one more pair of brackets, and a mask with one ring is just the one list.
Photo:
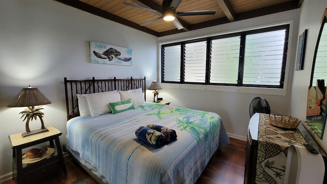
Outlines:
{"label": "white pillow closest to the small lamp in the corner", "polygon": [[121,100],[132,99],[134,106],[139,106],[145,103],[144,94],[142,88],[130,89],[125,91],[119,91],[121,94]]}

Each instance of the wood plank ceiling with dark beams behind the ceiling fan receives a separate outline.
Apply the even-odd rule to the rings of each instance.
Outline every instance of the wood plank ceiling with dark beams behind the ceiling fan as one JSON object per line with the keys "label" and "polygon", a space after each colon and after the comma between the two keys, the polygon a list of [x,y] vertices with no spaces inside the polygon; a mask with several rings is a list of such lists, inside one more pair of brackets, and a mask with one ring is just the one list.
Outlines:
{"label": "wood plank ceiling with dark beams behind the ceiling fan", "polygon": [[183,0],[177,11],[217,10],[215,15],[179,16],[183,29],[148,10],[123,4],[141,5],[162,12],[162,0],[54,0],[119,24],[161,37],[300,8],[303,0]]}

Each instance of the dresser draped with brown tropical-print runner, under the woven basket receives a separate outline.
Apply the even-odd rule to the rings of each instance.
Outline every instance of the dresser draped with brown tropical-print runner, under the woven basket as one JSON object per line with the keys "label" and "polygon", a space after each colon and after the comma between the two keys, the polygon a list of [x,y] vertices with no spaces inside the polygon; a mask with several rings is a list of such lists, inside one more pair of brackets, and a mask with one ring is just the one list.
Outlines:
{"label": "dresser draped with brown tropical-print runner, under the woven basket", "polygon": [[[263,141],[263,137],[265,137],[267,140]],[[307,142],[309,144],[315,143],[312,136],[306,130],[299,132],[297,129],[279,129],[269,125],[267,119],[264,118],[264,114],[255,113],[251,117],[248,126],[244,183],[271,183],[271,180],[265,180],[269,177],[270,179],[277,178],[277,183],[282,183],[285,175],[285,168],[283,168],[283,166],[286,166],[288,146],[291,144],[301,146],[303,143]],[[317,144],[315,147],[316,146]],[[264,150],[262,150],[263,148]],[[265,150],[267,150],[266,154]],[[325,154],[322,153],[320,149],[318,149],[318,151],[323,155],[324,162],[326,163],[326,159],[324,157]],[[257,163],[259,164],[257,165]],[[257,166],[259,166],[259,168],[257,168]],[[259,173],[258,175],[256,175],[257,171]],[[266,171],[271,176],[267,177]],[[263,173],[266,174],[265,178],[263,177]]]}

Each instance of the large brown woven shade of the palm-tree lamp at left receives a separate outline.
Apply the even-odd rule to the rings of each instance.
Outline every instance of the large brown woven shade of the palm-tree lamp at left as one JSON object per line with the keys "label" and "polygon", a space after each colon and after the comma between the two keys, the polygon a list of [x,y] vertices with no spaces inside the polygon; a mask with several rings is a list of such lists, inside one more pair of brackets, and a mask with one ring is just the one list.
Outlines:
{"label": "large brown woven shade of the palm-tree lamp at left", "polygon": [[36,87],[24,87],[7,107],[30,107],[51,104],[41,91]]}

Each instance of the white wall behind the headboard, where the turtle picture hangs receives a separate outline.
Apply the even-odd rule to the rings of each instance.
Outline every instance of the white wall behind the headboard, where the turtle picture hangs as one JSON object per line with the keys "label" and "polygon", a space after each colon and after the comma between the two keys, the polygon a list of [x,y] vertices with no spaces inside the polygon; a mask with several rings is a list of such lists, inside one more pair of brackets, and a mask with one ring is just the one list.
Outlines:
{"label": "white wall behind the headboard, where the turtle picture hangs", "polygon": [[[0,180],[12,171],[8,135],[25,131],[18,114],[8,108],[22,87],[37,87],[52,103],[45,105],[45,126],[66,135],[63,78],[147,78],[157,80],[158,39],[52,0],[0,1]],[[133,65],[89,62],[89,41],[133,50]],[[152,100],[151,91],[147,93]],[[40,120],[30,122],[40,128]]]}

